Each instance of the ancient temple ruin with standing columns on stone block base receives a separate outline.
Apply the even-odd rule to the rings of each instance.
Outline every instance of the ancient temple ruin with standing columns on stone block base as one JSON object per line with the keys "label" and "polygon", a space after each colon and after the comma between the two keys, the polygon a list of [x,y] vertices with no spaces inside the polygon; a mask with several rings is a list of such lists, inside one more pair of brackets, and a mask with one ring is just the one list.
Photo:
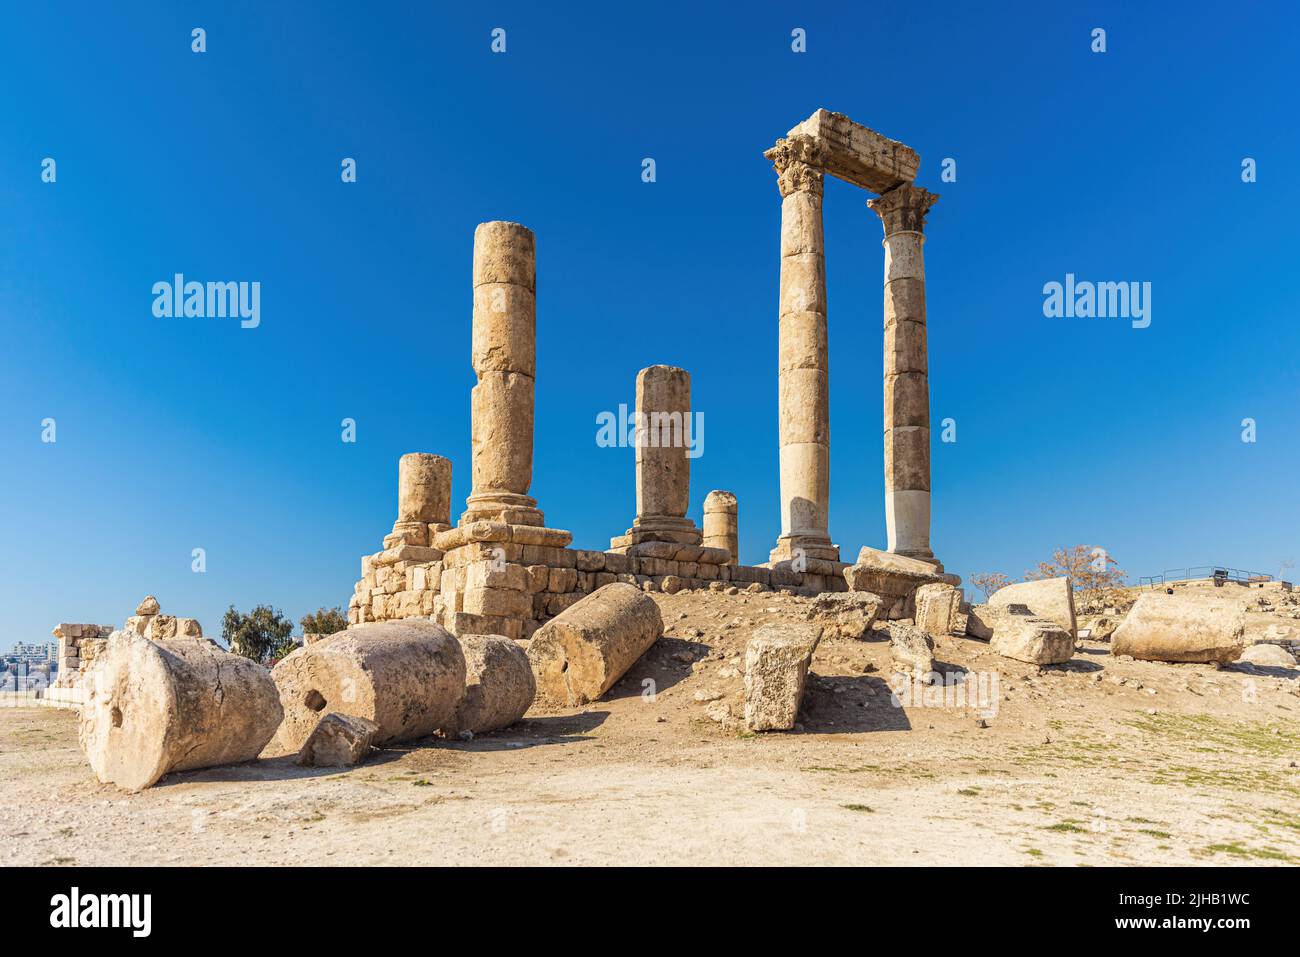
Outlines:
{"label": "ancient temple ruin with standing columns on stone block base", "polygon": [[[937,199],[913,185],[919,159],[901,143],[838,113],[818,111],[766,156],[781,191],[779,303],[781,534],[764,566],[738,563],[738,505],[690,506],[690,374],[650,365],[636,381],[637,514],[608,550],[569,547],[529,497],[537,381],[537,250],[532,230],[485,222],[474,230],[471,397],[473,489],[450,524],[451,463],[412,452],[398,468],[398,520],[384,550],[361,559],[348,622],[425,616],[454,635],[530,638],[555,615],[614,583],[642,590],[728,588],[844,592],[827,525],[829,494],[828,348],[822,182],[826,173],[880,194],[884,224],[885,514],[888,553],[920,571],[876,568],[910,594],[945,581],[930,547],[930,387],[926,363],[926,212]],[[859,557],[861,563],[861,557]],[[879,564],[879,563],[878,563]],[[893,605],[893,602],[890,602]],[[905,609],[897,609],[901,615]]]}

